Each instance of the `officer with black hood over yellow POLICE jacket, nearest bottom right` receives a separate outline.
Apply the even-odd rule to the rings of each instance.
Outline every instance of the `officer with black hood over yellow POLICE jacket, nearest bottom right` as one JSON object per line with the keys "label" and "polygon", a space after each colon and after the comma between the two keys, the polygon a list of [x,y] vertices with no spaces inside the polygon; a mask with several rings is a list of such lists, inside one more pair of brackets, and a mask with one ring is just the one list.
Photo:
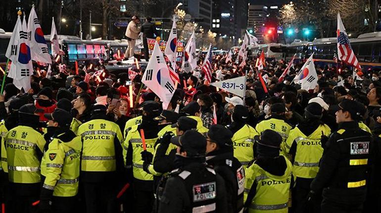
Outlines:
{"label": "officer with black hood over yellow POLICE jacket, nearest bottom right", "polygon": [[249,213],[287,213],[292,164],[279,154],[282,136],[266,129],[255,138],[257,159],[246,169],[244,207]]}

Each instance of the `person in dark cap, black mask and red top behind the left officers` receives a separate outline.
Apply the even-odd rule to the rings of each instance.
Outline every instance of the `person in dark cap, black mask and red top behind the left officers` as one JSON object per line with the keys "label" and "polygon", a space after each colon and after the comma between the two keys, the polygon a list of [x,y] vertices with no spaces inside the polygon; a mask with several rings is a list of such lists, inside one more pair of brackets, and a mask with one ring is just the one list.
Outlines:
{"label": "person in dark cap, black mask and red top behind the left officers", "polygon": [[34,95],[33,98],[36,100],[36,107],[43,110],[42,113],[39,113],[40,121],[48,121],[47,118],[44,117],[44,114],[52,113],[57,107],[55,105],[56,101],[53,100],[53,90],[51,90],[50,87],[44,87],[37,95]]}

